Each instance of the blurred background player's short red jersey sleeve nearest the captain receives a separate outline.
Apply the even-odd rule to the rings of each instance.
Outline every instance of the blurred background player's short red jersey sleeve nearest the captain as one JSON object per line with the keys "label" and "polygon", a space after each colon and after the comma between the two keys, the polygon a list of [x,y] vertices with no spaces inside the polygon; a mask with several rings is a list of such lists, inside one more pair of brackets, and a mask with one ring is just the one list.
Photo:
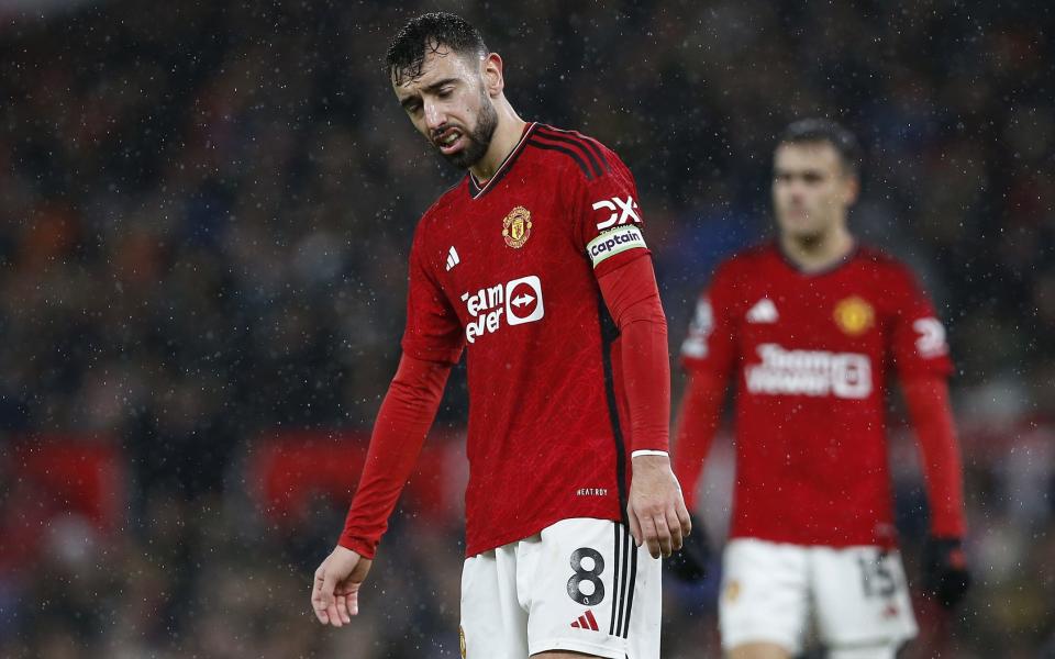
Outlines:
{"label": "blurred background player's short red jersey sleeve nearest the captain", "polygon": [[714,272],[700,294],[681,344],[681,366],[689,371],[725,376],[736,358],[735,282],[728,264]]}

